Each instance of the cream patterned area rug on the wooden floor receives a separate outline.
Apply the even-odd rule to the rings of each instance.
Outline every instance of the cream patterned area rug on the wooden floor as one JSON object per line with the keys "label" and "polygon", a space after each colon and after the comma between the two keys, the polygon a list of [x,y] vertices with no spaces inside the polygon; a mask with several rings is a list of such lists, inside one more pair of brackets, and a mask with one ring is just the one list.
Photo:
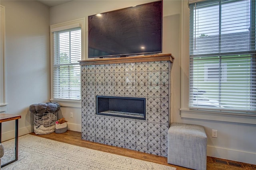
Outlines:
{"label": "cream patterned area rug on the wooden floor", "polygon": [[[3,143],[6,154],[13,151],[14,140]],[[33,135],[19,137],[18,161],[2,170],[176,170],[174,167],[146,162],[98,150],[78,147]],[[2,163],[10,159],[1,158]]]}

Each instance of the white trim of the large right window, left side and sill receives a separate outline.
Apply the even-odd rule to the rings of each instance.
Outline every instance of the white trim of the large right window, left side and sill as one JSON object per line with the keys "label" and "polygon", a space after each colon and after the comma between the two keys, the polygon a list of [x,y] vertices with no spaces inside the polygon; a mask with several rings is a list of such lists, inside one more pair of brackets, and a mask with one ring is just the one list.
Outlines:
{"label": "white trim of the large right window, left side and sill", "polygon": [[189,109],[189,14],[188,0],[181,2],[181,117],[256,124],[256,113]]}

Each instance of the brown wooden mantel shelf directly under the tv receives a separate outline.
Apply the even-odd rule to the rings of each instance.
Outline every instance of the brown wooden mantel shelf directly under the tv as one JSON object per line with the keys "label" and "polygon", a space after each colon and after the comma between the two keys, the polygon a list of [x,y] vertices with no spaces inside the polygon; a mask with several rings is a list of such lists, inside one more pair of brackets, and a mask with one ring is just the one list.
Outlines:
{"label": "brown wooden mantel shelf directly under the tv", "polygon": [[80,65],[94,65],[94,64],[116,64],[116,63],[135,63],[135,62],[148,62],[148,61],[170,61],[173,63],[174,57],[172,54],[159,54],[159,55],[143,55],[134,57],[118,57],[118,58],[104,58],[79,61]]}

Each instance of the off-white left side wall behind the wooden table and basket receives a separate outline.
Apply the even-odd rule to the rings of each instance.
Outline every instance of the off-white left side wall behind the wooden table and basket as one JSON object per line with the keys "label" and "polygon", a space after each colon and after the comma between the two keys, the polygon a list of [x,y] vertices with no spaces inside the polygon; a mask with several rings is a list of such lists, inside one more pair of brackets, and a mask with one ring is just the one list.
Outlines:
{"label": "off-white left side wall behind the wooden table and basket", "polygon": [[[6,12],[6,113],[21,115],[19,135],[34,131],[31,104],[50,99],[50,14],[38,1],[1,0]],[[14,137],[2,123],[2,141]]]}

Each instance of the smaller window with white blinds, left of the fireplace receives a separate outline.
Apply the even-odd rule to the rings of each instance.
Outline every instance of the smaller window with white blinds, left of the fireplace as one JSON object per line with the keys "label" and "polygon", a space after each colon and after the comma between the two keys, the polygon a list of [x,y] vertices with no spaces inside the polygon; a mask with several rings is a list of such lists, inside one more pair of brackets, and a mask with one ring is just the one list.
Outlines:
{"label": "smaller window with white blinds, left of the fireplace", "polygon": [[80,100],[81,28],[55,31],[53,98]]}

